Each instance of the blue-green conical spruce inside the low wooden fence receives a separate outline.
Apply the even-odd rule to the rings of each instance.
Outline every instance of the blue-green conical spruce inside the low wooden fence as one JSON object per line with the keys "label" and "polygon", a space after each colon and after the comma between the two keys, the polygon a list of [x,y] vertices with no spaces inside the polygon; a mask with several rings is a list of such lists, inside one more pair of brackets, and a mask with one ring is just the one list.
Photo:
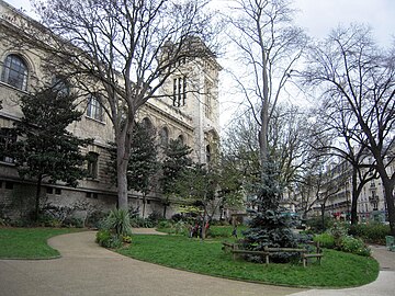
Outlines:
{"label": "blue-green conical spruce inside the low wooden fence", "polygon": [[[247,250],[263,251],[270,248],[296,248],[297,240],[290,228],[290,218],[281,215],[279,209],[280,189],[276,183],[274,167],[267,163],[261,187],[255,202],[257,210],[250,210],[249,229],[244,231],[241,246]],[[289,262],[297,254],[279,253],[273,257],[274,262]],[[259,258],[247,259],[260,261]]]}

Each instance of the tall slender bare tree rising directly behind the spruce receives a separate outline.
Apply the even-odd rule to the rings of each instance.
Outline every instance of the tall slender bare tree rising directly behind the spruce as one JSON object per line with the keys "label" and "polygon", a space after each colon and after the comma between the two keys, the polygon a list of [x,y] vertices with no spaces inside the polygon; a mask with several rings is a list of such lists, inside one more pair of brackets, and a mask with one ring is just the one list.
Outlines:
{"label": "tall slender bare tree rising directly behind the spruce", "polygon": [[246,73],[237,73],[235,79],[260,126],[263,174],[268,158],[269,122],[290,71],[303,54],[307,37],[301,29],[292,25],[293,11],[287,0],[237,0],[235,3],[237,16],[229,22],[236,31],[230,37],[239,48],[239,61],[246,68]]}

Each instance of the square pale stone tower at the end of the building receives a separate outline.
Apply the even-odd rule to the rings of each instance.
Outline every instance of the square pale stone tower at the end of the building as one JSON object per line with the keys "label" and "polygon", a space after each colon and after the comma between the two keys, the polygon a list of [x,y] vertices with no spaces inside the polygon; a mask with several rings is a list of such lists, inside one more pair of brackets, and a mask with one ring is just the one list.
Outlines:
{"label": "square pale stone tower at the end of the building", "polygon": [[193,123],[193,158],[200,163],[215,159],[219,141],[218,73],[214,57],[183,59],[167,79],[163,91],[167,102]]}

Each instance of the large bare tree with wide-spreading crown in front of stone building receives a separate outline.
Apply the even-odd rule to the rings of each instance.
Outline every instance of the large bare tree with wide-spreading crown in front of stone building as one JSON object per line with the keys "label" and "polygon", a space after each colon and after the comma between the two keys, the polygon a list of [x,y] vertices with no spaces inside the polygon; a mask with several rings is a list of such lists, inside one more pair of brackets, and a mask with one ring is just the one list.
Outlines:
{"label": "large bare tree with wide-spreading crown in front of stone building", "polygon": [[[21,36],[47,53],[46,67],[94,93],[109,115],[116,143],[120,208],[127,208],[127,163],[137,111],[158,96],[183,61],[213,58],[206,1],[36,1],[50,30],[23,23]],[[55,33],[55,35],[53,34]],[[23,39],[23,38],[22,38]]]}

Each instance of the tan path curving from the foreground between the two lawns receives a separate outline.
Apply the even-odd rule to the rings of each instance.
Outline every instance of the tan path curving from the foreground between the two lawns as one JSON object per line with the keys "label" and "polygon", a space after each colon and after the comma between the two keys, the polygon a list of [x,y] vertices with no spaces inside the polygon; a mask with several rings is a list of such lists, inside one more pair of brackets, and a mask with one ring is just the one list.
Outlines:
{"label": "tan path curving from the foreground between the two lawns", "polygon": [[290,295],[302,289],[222,280],[133,260],[100,248],[94,232],[54,237],[55,260],[0,260],[1,296]]}

